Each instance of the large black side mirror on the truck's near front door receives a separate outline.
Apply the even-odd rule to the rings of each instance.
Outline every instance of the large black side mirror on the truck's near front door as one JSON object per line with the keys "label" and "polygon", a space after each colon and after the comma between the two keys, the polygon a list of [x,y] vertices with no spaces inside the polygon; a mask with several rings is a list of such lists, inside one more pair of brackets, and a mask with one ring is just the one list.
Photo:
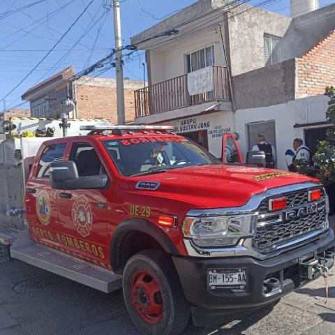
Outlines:
{"label": "large black side mirror on the truck's near front door", "polygon": [[64,181],[79,178],[77,166],[73,161],[58,161],[50,164],[50,184],[52,188],[64,190]]}

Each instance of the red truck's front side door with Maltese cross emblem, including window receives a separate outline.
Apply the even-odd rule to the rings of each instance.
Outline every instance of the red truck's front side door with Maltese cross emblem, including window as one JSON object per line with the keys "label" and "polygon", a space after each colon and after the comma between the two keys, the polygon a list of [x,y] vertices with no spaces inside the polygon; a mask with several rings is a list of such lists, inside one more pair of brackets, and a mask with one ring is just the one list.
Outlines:
{"label": "red truck's front side door with Maltese cross emblem, including window", "polygon": [[[72,142],[70,161],[80,177],[106,173],[94,143]],[[59,234],[57,240],[73,255],[89,258],[98,265],[107,262],[108,190],[59,191]]]}

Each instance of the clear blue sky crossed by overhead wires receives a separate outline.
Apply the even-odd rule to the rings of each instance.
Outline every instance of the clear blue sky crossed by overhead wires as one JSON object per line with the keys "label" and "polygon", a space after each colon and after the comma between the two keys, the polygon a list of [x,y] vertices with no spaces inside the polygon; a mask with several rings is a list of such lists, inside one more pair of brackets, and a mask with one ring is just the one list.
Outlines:
{"label": "clear blue sky crossed by overhead wires", "polygon": [[[63,68],[75,66],[78,73],[109,54],[114,47],[114,14],[108,6],[110,2],[0,0],[0,111],[3,110],[3,97],[8,95],[44,57],[36,70],[6,96],[4,100],[7,109],[22,103],[21,95],[27,89]],[[195,0],[120,2],[122,44],[128,45],[131,36],[153,26],[171,13],[191,5]],[[261,2],[251,0],[248,4],[256,6]],[[263,8],[281,15],[290,15],[290,0],[270,2]],[[320,0],[319,3],[320,7],[323,7],[335,1]],[[84,11],[86,7],[87,10]],[[81,13],[83,14],[80,16]],[[68,29],[68,34],[54,47]],[[53,47],[54,50],[50,52]],[[124,57],[124,77],[143,80],[144,62],[144,52],[140,50]],[[101,76],[115,77],[114,68]]]}

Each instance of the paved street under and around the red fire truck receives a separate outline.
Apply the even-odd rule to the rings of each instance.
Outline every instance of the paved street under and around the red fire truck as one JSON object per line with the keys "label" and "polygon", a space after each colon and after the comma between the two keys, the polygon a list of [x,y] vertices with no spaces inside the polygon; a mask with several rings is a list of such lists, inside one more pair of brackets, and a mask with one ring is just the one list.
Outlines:
{"label": "paved street under and around the red fire truck", "polygon": [[[105,295],[18,260],[0,265],[0,335],[140,334],[128,318],[121,290]],[[323,278],[274,308],[184,335],[335,334],[335,271],[325,304]]]}

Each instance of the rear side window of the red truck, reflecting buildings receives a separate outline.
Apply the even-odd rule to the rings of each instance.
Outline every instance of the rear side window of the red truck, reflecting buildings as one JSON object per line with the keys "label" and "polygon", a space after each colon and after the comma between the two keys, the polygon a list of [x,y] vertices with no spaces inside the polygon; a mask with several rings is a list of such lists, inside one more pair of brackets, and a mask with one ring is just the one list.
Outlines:
{"label": "rear side window of the red truck, reflecting buildings", "polygon": [[54,161],[62,161],[64,159],[64,151],[66,143],[52,144],[43,151],[37,168],[37,178],[49,178],[49,165]]}

